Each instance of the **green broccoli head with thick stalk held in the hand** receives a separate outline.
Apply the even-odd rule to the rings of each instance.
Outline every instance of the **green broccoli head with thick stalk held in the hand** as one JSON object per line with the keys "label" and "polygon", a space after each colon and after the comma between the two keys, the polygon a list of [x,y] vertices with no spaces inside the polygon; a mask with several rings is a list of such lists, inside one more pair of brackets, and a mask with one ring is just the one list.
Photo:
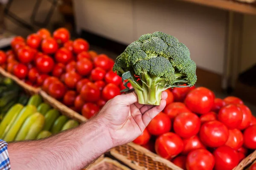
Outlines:
{"label": "green broccoli head with thick stalk held in the hand", "polygon": [[[142,35],[128,45],[113,66],[123,81],[131,83],[139,103],[145,105],[160,105],[162,91],[168,88],[194,85],[195,70],[186,45],[163,32]],[[186,86],[180,86],[183,84]]]}

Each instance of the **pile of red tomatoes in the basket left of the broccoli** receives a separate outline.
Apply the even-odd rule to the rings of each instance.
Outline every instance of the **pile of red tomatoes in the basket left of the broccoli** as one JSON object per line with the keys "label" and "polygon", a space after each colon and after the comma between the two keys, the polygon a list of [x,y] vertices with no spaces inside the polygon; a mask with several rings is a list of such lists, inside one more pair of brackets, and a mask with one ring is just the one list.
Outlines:
{"label": "pile of red tomatoes in the basket left of the broccoli", "polygon": [[58,28],[51,34],[40,29],[26,39],[17,36],[12,49],[0,51],[0,66],[34,87],[63,102],[87,119],[125,88],[112,71],[113,59],[90,51],[86,40],[70,40]]}

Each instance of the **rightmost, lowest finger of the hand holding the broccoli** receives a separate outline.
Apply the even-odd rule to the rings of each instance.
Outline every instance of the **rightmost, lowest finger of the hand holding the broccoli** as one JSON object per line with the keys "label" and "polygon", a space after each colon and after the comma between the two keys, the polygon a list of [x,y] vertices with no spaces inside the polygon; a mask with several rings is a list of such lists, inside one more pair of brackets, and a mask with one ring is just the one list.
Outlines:
{"label": "rightmost, lowest finger of the hand holding the broccoli", "polygon": [[145,114],[142,116],[142,120],[145,126],[149,124],[149,122],[157,116],[158,113],[163,111],[164,107],[166,106],[166,100],[162,99],[159,106],[155,106],[150,110],[146,111]]}

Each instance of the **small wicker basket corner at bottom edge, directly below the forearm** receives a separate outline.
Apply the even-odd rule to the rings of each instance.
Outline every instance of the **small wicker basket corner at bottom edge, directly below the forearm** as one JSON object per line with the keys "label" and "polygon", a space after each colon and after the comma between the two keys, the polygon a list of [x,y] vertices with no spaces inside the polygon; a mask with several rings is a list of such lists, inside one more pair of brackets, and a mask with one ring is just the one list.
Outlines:
{"label": "small wicker basket corner at bottom edge, directly below the forearm", "polygon": [[110,158],[99,158],[83,170],[130,170],[128,167]]}

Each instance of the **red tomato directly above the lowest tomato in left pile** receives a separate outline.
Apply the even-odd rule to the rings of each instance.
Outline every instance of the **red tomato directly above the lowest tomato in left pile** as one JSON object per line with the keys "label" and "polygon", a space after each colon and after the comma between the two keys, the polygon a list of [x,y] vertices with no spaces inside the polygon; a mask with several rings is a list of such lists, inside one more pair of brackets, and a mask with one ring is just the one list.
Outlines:
{"label": "red tomato directly above the lowest tomato in left pile", "polygon": [[96,102],[99,100],[99,88],[92,82],[87,82],[82,88],[80,95],[85,102]]}

